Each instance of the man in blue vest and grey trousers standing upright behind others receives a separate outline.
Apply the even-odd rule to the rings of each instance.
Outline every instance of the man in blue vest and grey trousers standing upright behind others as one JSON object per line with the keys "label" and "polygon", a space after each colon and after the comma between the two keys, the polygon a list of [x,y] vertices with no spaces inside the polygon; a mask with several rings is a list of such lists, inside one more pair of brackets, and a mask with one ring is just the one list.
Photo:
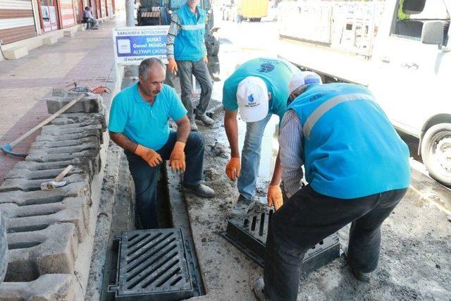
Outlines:
{"label": "man in blue vest and grey trousers standing upright behind others", "polygon": [[[206,67],[208,59],[204,43],[206,13],[197,6],[199,0],[187,0],[171,17],[166,47],[168,53],[168,69],[178,71],[182,102],[187,109],[191,130],[197,131],[194,121],[198,119],[206,125],[214,120],[206,116],[213,84]],[[192,107],[192,75],[201,87],[199,105]]]}

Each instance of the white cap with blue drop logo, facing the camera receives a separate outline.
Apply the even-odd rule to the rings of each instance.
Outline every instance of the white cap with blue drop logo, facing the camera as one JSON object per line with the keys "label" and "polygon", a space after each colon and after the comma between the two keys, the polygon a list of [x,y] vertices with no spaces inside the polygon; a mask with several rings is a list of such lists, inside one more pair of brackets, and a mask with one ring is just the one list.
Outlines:
{"label": "white cap with blue drop logo, facing the camera", "polygon": [[238,110],[243,121],[261,121],[268,115],[268,87],[261,78],[248,76],[237,89]]}

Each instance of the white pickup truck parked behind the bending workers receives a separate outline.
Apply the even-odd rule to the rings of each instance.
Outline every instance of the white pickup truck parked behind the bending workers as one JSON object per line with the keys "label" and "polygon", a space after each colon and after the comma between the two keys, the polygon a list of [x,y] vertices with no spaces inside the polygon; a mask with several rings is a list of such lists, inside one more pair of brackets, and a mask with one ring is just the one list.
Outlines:
{"label": "white pickup truck parked behind the bending workers", "polygon": [[451,185],[451,0],[280,4],[278,55],[368,86],[395,128],[419,138],[430,176]]}

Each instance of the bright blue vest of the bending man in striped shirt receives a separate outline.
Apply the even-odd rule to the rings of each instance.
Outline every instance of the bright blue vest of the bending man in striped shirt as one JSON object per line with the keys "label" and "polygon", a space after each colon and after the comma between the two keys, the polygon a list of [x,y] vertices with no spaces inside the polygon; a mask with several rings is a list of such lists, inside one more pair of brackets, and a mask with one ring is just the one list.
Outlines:
{"label": "bright blue vest of the bending man in striped shirt", "polygon": [[316,192],[354,199],[409,187],[409,149],[366,87],[312,85],[288,109],[299,116]]}

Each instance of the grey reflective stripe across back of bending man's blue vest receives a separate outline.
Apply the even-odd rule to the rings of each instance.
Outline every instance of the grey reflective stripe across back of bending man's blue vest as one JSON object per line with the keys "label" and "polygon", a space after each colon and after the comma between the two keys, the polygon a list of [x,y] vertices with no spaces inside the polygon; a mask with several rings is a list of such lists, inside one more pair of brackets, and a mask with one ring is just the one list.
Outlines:
{"label": "grey reflective stripe across back of bending man's blue vest", "polygon": [[342,102],[351,102],[354,100],[374,101],[373,97],[370,97],[368,94],[362,93],[342,94],[326,100],[326,102],[323,102],[321,105],[319,105],[310,114],[309,118],[307,118],[307,121],[305,121],[304,128],[302,128],[302,133],[304,134],[304,137],[310,139],[311,129],[314,127],[316,122],[319,121],[319,118],[321,118],[321,116],[323,116],[327,111],[337,106],[338,104],[341,104]]}

